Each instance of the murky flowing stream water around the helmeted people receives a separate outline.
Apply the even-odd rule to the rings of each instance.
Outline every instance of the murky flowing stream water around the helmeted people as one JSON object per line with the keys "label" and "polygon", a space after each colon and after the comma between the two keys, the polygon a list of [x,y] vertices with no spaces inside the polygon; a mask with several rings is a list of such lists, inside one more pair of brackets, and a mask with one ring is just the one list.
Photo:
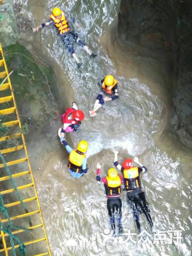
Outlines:
{"label": "murky flowing stream water around the helmeted people", "polygon": [[[174,147],[171,151],[158,148],[153,138],[165,127],[166,106],[137,78],[127,80],[117,76],[112,61],[100,44],[101,35],[117,16],[120,1],[23,0],[22,3],[23,10],[34,19],[35,25],[48,20],[54,7],[65,10],[81,23],[83,30],[78,32],[80,37],[98,54],[95,59],[89,59],[77,46],[76,52],[83,63],[82,69],[78,70],[56,30],[47,27],[41,32],[42,52],[50,60],[56,60],[67,76],[67,81],[61,85],[64,93],[60,95],[60,101],[71,99],[72,102],[73,99],[68,95],[68,88],[72,87],[77,105],[85,113],[80,130],[67,138],[70,137],[75,146],[79,140],[89,142],[87,156],[90,170],[86,176],[75,179],[69,174],[67,158],[64,157],[65,148],[61,147],[60,152],[56,151],[50,159],[44,160],[46,168],[41,179],[36,180],[52,254],[190,255],[192,216],[188,158],[179,158],[178,152],[174,154]],[[38,33],[36,37],[39,36]],[[95,117],[89,117],[88,111],[93,108],[99,93],[97,83],[106,74],[113,74],[118,80],[119,99],[107,102]],[[57,75],[60,76],[60,73]],[[113,167],[113,148],[120,151],[120,163],[127,157],[138,156],[148,168],[146,174],[141,174],[142,187],[155,226],[160,231],[182,230],[181,244],[177,245],[175,239],[170,244],[140,242],[136,245],[130,240],[122,244],[120,239],[115,245],[112,240],[102,245],[100,233],[110,228],[110,225],[104,187],[95,179],[96,163],[101,163],[102,175],[105,176],[108,168]],[[124,232],[130,229],[136,233],[124,193],[121,197]],[[143,214],[140,219],[143,229],[151,234]],[[124,236],[123,240],[126,238]],[[139,240],[136,237],[133,239]]]}

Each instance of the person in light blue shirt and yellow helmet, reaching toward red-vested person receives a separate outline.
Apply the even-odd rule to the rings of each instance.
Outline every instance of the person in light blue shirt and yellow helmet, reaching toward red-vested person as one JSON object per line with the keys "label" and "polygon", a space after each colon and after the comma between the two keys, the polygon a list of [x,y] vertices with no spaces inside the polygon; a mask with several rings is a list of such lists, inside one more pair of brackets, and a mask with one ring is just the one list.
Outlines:
{"label": "person in light blue shirt and yellow helmet, reaching toward red-vested person", "polygon": [[58,130],[58,136],[60,138],[61,144],[63,144],[69,153],[69,163],[68,170],[72,176],[79,178],[86,174],[89,170],[87,167],[87,158],[84,153],[86,153],[88,148],[88,143],[85,140],[81,140],[77,146],[77,149],[72,149],[66,142],[66,140],[61,136],[61,129]]}

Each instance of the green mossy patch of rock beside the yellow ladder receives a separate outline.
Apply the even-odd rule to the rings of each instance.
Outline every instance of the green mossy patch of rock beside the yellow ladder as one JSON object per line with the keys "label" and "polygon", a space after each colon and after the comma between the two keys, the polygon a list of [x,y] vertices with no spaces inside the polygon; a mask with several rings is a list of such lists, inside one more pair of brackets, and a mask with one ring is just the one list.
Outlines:
{"label": "green mossy patch of rock beside the yellow ladder", "polygon": [[41,129],[55,116],[52,69],[18,43],[3,50],[8,71],[14,70],[11,82],[22,123]]}

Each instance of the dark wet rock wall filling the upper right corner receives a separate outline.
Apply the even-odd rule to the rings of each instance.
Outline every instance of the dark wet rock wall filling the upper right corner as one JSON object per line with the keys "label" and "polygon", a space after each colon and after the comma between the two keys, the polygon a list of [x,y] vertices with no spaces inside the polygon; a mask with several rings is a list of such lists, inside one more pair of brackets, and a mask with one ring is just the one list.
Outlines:
{"label": "dark wet rock wall filling the upper right corner", "polygon": [[[171,125],[192,148],[192,2],[121,0],[112,41],[125,53],[127,75],[144,78],[174,109]],[[156,90],[154,90],[156,84]],[[166,99],[165,99],[166,98]]]}

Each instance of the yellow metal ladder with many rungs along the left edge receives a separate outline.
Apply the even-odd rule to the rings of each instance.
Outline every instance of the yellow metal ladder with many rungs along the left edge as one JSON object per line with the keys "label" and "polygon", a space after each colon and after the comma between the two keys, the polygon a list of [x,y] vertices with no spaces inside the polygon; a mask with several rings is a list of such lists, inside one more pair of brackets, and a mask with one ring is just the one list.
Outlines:
{"label": "yellow metal ladder with many rungs along the left edge", "polygon": [[[1,58],[1,55],[2,55],[2,58]],[[1,83],[3,78],[5,78],[9,74],[8,69],[7,69],[7,65],[6,65],[6,62],[5,62],[3,50],[2,50],[2,47],[1,47],[1,43],[0,43],[0,67],[2,67],[1,69],[3,69],[3,70],[0,71],[0,83]],[[44,252],[41,251],[41,253],[39,252],[39,254],[36,255],[36,256],[42,256],[42,255],[50,255],[51,256],[50,248],[49,248],[49,242],[48,242],[48,239],[47,239],[45,225],[44,225],[44,221],[43,221],[43,218],[42,218],[41,209],[40,209],[40,205],[39,205],[39,199],[38,199],[38,195],[37,195],[37,190],[36,190],[35,184],[34,184],[34,177],[33,177],[32,171],[31,171],[31,166],[30,166],[30,162],[29,162],[29,156],[28,156],[28,153],[27,153],[26,145],[25,145],[25,138],[24,138],[24,136],[22,134],[21,123],[20,123],[20,119],[19,119],[19,113],[18,113],[18,109],[17,109],[17,106],[16,106],[15,97],[14,97],[14,90],[12,89],[11,80],[10,80],[9,77],[7,78],[6,83],[4,83],[4,84],[2,84],[0,86],[0,91],[7,90],[7,89],[10,89],[11,95],[10,95],[10,93],[7,93],[10,96],[5,96],[5,95],[0,96],[0,103],[6,103],[6,102],[9,102],[9,101],[12,100],[14,105],[12,105],[12,103],[11,103],[11,106],[10,107],[8,106],[8,109],[2,109],[3,107],[1,107],[0,115],[6,115],[6,114],[15,113],[17,118],[16,118],[16,120],[12,120],[12,121],[9,121],[9,122],[6,121],[5,123],[2,124],[2,127],[12,127],[12,126],[16,125],[16,128],[17,129],[19,128],[20,132],[16,133],[16,134],[13,134],[13,135],[9,134],[7,136],[4,136],[4,137],[0,138],[0,142],[1,141],[6,141],[8,139],[10,139],[10,140],[11,139],[15,139],[15,138],[18,138],[18,141],[19,141],[19,146],[18,147],[5,148],[5,149],[3,149],[3,154],[14,152],[14,151],[19,150],[21,148],[25,149],[25,157],[26,158],[18,159],[18,160],[15,160],[15,161],[10,161],[10,162],[8,162],[8,165],[15,165],[17,163],[22,163],[22,162],[27,161],[26,163],[29,166],[29,171],[24,171],[24,172],[12,174],[12,178],[16,178],[16,177],[24,176],[26,174],[30,174],[30,177],[32,179],[32,181],[31,181],[32,183],[26,184],[26,185],[22,185],[20,187],[17,187],[17,189],[21,190],[21,189],[30,188],[31,190],[33,190],[33,193],[34,193],[33,197],[24,199],[23,201],[27,203],[27,202],[32,202],[33,200],[36,200],[37,205],[38,205],[38,208],[36,208],[35,211],[33,209],[33,211],[31,210],[31,212],[29,212],[29,213],[27,212],[26,214],[14,216],[14,217],[11,218],[11,221],[14,221],[14,220],[17,220],[17,219],[19,221],[19,220],[21,220],[21,218],[26,218],[26,217],[28,217],[30,215],[37,214],[34,217],[35,218],[39,217],[41,219],[41,222],[40,222],[41,224],[40,225],[36,225],[36,226],[32,226],[32,227],[28,227],[28,229],[33,230],[33,229],[39,227],[44,232],[44,236],[43,236],[43,238],[39,238],[39,239],[37,239],[37,237],[35,237],[34,239],[36,239],[36,240],[33,240],[33,238],[32,238],[32,240],[27,241],[27,242],[25,242],[23,244],[24,245],[30,245],[30,244],[34,244],[34,243],[37,243],[37,242],[46,241],[46,248],[47,249],[43,249],[43,246],[40,244],[39,247]],[[13,108],[13,106],[14,106],[14,108]],[[7,107],[5,107],[5,108],[7,108]],[[15,118],[13,118],[13,119],[15,119]],[[2,163],[0,163],[0,168],[3,167],[3,166],[4,165]],[[0,181],[9,180],[9,179],[10,179],[9,176],[0,177]],[[15,189],[11,188],[11,189],[8,189],[8,190],[5,190],[5,191],[1,191],[0,194],[1,195],[5,195],[5,194],[11,193],[11,192],[15,192]],[[18,206],[18,205],[20,205],[20,201],[12,202],[12,203],[7,203],[6,204],[7,207],[14,207],[14,206]],[[7,218],[7,217],[4,217],[4,218]],[[3,219],[1,221],[2,222],[7,222],[8,219]],[[26,230],[22,230],[22,229],[15,230],[15,231],[12,232],[12,234],[22,233],[22,232],[25,232],[25,231]],[[11,247],[7,248],[7,244],[6,244],[7,241],[5,240],[5,236],[8,237],[9,235],[8,234],[4,234],[3,231],[0,231],[0,240],[2,240],[3,246],[4,246],[4,249],[0,249],[0,252],[4,252],[4,254],[6,256],[8,256],[8,251],[12,250],[12,248]],[[25,234],[24,234],[24,237],[25,237]],[[15,245],[15,248],[18,248],[18,247],[19,247],[19,245]]]}

